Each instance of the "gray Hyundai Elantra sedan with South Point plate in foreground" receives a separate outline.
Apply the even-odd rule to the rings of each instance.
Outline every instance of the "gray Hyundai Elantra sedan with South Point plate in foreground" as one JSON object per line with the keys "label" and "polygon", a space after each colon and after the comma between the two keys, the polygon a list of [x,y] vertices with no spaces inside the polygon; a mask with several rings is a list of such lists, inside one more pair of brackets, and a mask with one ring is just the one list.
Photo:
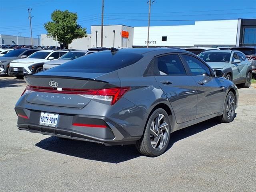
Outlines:
{"label": "gray Hyundai Elantra sedan with South Point plate in foreground", "polygon": [[223,74],[184,50],[112,48],[25,76],[17,126],[159,156],[176,130],[234,120],[238,90]]}

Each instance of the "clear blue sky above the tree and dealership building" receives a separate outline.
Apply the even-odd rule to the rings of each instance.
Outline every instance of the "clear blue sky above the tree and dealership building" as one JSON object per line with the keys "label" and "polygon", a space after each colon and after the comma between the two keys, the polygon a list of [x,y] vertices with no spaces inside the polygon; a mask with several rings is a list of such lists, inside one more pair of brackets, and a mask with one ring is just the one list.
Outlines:
{"label": "clear blue sky above the tree and dealership building", "polygon": [[[78,14],[87,28],[101,24],[102,0],[0,0],[0,34],[30,36],[28,8],[32,8],[32,34],[46,33],[43,24],[56,10]],[[256,0],[156,0],[151,26],[194,24],[195,20],[256,18]],[[105,0],[104,24],[148,25],[147,0]]]}

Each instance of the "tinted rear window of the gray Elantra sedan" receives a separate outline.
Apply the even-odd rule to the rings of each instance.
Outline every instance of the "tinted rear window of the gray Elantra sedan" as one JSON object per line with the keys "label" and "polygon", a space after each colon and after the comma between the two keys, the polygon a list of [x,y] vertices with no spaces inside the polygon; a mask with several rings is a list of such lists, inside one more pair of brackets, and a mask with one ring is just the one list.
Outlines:
{"label": "tinted rear window of the gray Elantra sedan", "polygon": [[102,51],[66,62],[52,68],[54,72],[108,73],[136,63],[143,56],[129,52]]}

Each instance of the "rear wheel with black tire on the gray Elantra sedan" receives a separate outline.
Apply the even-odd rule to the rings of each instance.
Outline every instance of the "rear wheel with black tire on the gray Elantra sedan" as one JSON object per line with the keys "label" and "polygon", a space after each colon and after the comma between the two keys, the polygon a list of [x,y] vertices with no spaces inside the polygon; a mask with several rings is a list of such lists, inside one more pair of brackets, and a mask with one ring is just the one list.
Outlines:
{"label": "rear wheel with black tire on the gray Elantra sedan", "polygon": [[[157,121],[157,119],[160,119],[160,121]],[[161,128],[160,126],[158,126],[158,124],[166,124],[166,126]],[[154,129],[154,134],[152,134],[153,132],[152,130],[150,130],[151,127]],[[147,156],[159,156],[163,154],[166,151],[166,148],[168,147],[170,141],[170,132],[170,116],[168,116],[164,109],[156,109],[148,118],[148,122],[146,124],[142,138],[136,142],[137,150],[141,154]],[[156,137],[157,135],[158,137]]]}

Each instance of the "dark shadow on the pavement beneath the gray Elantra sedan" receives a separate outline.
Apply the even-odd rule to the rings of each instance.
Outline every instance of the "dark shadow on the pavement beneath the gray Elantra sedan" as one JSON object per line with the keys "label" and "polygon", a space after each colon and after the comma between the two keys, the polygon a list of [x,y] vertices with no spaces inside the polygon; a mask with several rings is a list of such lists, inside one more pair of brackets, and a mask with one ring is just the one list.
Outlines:
{"label": "dark shadow on the pavement beneath the gray Elantra sedan", "polygon": [[[220,124],[220,122],[216,118],[213,118],[173,132],[167,150],[175,142],[216,126],[217,124]],[[41,140],[36,146],[52,152],[115,164],[142,156],[134,145],[104,146],[102,144],[62,139],[54,136]]]}

